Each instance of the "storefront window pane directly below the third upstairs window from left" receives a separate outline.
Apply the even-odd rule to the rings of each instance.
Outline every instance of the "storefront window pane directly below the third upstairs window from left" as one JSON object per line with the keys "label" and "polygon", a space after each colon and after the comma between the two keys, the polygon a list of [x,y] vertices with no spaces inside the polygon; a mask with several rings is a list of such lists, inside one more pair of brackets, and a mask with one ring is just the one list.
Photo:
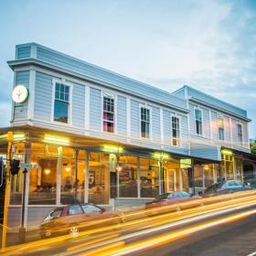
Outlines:
{"label": "storefront window pane directly below the third upstairs window from left", "polygon": [[140,158],[141,197],[156,197],[159,195],[159,165],[158,161]]}

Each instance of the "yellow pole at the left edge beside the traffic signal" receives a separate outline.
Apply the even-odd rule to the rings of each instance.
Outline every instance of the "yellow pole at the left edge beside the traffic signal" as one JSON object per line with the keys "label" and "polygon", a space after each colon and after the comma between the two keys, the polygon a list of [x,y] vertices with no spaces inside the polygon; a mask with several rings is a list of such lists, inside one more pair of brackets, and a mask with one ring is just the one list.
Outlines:
{"label": "yellow pole at the left edge beside the traffic signal", "polygon": [[[8,148],[7,148],[7,158],[12,158],[12,144],[13,144],[14,133],[8,132]],[[5,208],[4,208],[4,221],[3,221],[3,231],[2,231],[2,249],[6,247],[6,234],[7,234],[7,220],[8,220],[8,206],[10,199],[10,161],[7,160],[7,169],[5,176]]]}

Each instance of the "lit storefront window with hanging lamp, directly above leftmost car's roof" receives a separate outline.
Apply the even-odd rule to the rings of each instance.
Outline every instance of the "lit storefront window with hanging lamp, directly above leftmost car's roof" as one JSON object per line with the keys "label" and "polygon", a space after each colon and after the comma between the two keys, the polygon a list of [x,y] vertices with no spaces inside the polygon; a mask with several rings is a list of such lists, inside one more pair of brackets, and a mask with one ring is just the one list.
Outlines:
{"label": "lit storefront window with hanging lamp, directly above leftmost car's roof", "polygon": [[72,148],[62,148],[61,192],[60,203],[63,205],[84,202],[85,159],[78,160],[76,165],[75,152]]}

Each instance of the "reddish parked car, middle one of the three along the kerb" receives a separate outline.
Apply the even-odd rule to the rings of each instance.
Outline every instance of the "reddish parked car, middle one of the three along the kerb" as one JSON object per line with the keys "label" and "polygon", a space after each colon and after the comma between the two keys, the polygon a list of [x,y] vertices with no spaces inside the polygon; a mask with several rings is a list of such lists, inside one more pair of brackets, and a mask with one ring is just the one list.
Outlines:
{"label": "reddish parked car, middle one of the three along the kerb", "polygon": [[180,204],[183,202],[193,201],[201,197],[193,196],[186,191],[174,191],[165,193],[158,197],[155,197],[155,200],[147,202],[145,208],[161,208],[168,205]]}

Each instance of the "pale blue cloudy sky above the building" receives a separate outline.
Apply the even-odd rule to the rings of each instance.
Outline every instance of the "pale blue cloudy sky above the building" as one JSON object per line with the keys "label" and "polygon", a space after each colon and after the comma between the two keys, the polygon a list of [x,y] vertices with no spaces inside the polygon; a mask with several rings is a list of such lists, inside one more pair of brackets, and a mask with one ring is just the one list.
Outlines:
{"label": "pale blue cloudy sky above the building", "polygon": [[10,119],[15,45],[37,42],[175,91],[248,111],[256,137],[256,1],[0,1],[0,126]]}

